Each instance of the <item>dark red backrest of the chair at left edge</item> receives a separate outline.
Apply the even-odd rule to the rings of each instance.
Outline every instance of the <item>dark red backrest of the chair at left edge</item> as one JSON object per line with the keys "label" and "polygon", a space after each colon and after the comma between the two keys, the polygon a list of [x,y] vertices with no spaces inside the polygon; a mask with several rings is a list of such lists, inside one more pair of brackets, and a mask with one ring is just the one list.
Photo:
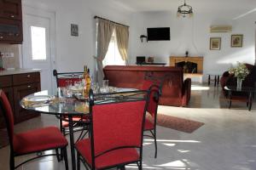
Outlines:
{"label": "dark red backrest of the chair at left edge", "polygon": [[9,104],[9,99],[4,94],[3,90],[0,89],[0,106],[1,106],[1,112],[3,112],[3,116],[5,118],[7,130],[9,133],[9,143],[13,143],[14,138],[14,115],[11,108],[11,105]]}

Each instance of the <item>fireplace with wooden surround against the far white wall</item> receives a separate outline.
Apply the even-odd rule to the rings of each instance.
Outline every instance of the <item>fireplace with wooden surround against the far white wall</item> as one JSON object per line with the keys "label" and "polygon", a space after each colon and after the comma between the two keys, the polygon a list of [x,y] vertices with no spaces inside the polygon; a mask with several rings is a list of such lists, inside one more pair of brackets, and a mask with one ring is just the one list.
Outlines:
{"label": "fireplace with wooden surround against the far white wall", "polygon": [[183,68],[184,73],[203,73],[203,57],[170,57],[170,66]]}

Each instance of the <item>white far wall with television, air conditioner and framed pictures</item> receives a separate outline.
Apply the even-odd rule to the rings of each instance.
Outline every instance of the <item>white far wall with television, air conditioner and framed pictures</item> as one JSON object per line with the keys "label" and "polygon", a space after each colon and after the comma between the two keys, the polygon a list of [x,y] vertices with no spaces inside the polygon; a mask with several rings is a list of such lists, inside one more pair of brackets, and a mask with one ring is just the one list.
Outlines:
{"label": "white far wall with television, air conditioner and framed pictures", "polygon": [[[253,64],[255,56],[255,24],[256,14],[248,14],[237,20],[232,20],[240,14],[218,13],[196,14],[191,19],[176,17],[171,12],[143,12],[133,14],[131,24],[131,61],[136,62],[136,56],[154,56],[158,62],[169,64],[169,56],[184,56],[189,51],[190,56],[204,57],[204,74],[222,74],[236,61]],[[212,25],[231,25],[233,31],[228,33],[210,33]],[[147,27],[171,28],[171,41],[141,42],[140,35],[147,35]],[[243,34],[243,47],[230,48],[231,34]],[[209,50],[210,37],[221,37],[221,50]],[[206,76],[204,77],[206,80]]]}

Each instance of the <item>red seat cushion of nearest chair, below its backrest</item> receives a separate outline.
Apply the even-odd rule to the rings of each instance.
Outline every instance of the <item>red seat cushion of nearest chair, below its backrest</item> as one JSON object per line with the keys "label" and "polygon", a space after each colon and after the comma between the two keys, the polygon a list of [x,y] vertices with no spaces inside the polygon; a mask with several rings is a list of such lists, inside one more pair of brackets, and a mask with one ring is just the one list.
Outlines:
{"label": "red seat cushion of nearest chair, below its backrest", "polygon": [[[91,166],[90,139],[80,140],[76,145],[80,155],[84,157]],[[111,167],[125,162],[138,161],[139,155],[136,149],[119,149],[113,150],[102,156],[96,157],[96,169]]]}

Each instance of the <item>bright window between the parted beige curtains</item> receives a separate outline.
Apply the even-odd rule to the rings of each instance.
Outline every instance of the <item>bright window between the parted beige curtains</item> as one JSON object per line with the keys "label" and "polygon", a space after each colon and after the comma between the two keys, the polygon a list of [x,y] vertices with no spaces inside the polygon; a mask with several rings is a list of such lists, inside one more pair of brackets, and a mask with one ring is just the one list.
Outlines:
{"label": "bright window between the parted beige curtains", "polygon": [[123,60],[119,54],[115,31],[113,31],[113,35],[108,45],[108,52],[105,59],[103,59],[103,66],[105,65],[125,65],[125,60]]}

